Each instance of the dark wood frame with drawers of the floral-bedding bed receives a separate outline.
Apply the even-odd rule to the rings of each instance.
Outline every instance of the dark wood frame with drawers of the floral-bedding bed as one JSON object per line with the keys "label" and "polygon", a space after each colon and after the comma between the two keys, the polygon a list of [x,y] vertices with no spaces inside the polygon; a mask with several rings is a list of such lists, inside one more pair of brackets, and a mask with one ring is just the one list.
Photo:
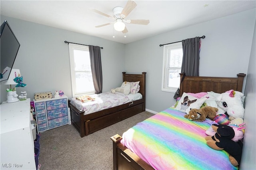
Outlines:
{"label": "dark wood frame with drawers of the floral-bedding bed", "polygon": [[87,136],[88,134],[145,111],[146,72],[142,72],[142,74],[126,74],[126,72],[122,73],[123,81],[140,81],[139,93],[142,94],[142,99],[95,113],[90,113],[88,115],[84,115],[84,111],[79,111],[76,109],[76,107],[70,103],[70,100],[68,100],[72,125],[74,125],[78,132],[80,132],[81,137]]}

